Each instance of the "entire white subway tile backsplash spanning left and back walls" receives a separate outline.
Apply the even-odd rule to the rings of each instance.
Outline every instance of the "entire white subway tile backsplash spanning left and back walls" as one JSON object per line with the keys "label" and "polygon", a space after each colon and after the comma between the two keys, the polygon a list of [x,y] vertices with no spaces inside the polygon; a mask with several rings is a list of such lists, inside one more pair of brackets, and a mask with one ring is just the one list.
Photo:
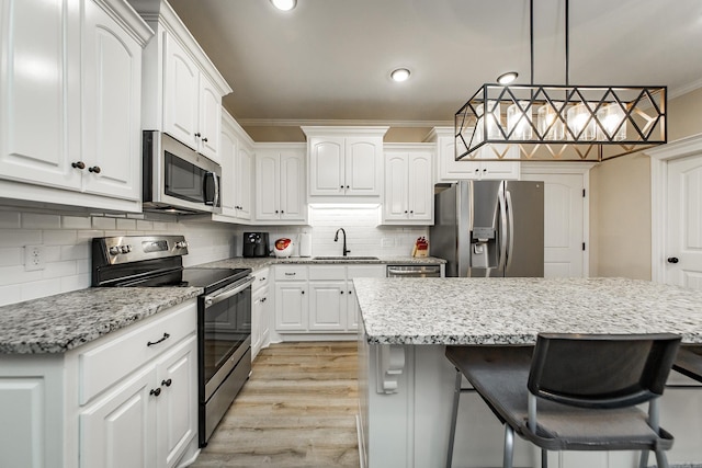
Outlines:
{"label": "entire white subway tile backsplash spanning left and back walls", "polygon": [[[162,215],[83,215],[0,207],[0,306],[90,287],[94,237],[182,235],[189,243],[185,266],[241,255],[242,232],[268,231],[271,243],[281,237],[297,241],[312,235],[313,255],[340,255],[343,228],[351,255],[410,255],[427,228],[381,226],[380,206],[319,205],[309,208],[309,226],[241,226],[197,217]],[[25,267],[25,247],[38,246],[42,270]],[[271,246],[272,247],[272,246]],[[297,254],[297,249],[293,252]]]}

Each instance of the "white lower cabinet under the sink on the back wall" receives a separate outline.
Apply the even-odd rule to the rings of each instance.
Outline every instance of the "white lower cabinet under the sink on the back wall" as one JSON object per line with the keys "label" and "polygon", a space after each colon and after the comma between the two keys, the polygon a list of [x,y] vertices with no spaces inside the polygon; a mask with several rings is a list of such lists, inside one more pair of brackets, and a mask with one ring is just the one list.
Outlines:
{"label": "white lower cabinet under the sink on the back wall", "polygon": [[382,264],[276,265],[275,331],[355,333],[354,277],[385,277]]}

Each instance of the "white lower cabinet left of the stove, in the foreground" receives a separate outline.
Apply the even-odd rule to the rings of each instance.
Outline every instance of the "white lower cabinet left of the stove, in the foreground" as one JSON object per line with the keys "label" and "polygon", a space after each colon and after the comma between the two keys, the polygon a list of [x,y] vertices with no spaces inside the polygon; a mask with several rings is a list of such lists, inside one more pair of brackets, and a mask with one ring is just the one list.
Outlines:
{"label": "white lower cabinet left of the stove, in the foreground", "polygon": [[63,354],[3,356],[0,466],[173,468],[193,457],[196,317],[190,299]]}

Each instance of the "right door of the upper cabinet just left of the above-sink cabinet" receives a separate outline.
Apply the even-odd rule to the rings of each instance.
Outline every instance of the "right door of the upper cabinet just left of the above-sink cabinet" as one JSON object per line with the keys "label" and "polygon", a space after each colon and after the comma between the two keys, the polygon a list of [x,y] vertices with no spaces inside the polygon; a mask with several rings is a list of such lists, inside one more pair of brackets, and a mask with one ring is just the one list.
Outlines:
{"label": "right door of the upper cabinet just left of the above-sink cabinet", "polygon": [[280,160],[281,219],[305,220],[305,155],[297,151],[281,152]]}

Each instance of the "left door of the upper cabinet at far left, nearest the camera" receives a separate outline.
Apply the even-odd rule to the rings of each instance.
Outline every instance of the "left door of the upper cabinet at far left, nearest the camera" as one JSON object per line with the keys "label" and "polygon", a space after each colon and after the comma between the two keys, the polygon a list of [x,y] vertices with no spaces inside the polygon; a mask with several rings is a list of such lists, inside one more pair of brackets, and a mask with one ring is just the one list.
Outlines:
{"label": "left door of the upper cabinet at far left, nearest the camera", "polygon": [[80,189],[81,171],[71,167],[81,159],[79,13],[73,2],[2,2],[3,179]]}

